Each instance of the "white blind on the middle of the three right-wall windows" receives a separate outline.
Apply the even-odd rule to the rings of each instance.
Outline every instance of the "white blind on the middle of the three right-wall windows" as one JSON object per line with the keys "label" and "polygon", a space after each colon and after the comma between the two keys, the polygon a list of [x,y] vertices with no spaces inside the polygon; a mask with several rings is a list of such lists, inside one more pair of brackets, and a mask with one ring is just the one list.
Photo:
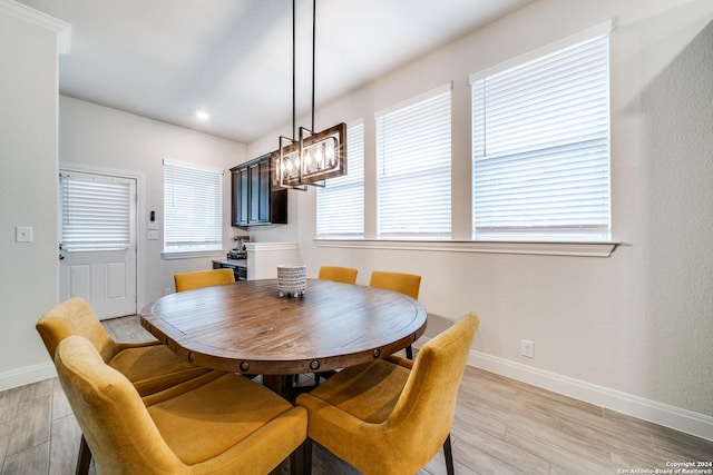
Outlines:
{"label": "white blind on the middle of the three right-wall windows", "polygon": [[379,238],[450,238],[450,85],[377,113]]}

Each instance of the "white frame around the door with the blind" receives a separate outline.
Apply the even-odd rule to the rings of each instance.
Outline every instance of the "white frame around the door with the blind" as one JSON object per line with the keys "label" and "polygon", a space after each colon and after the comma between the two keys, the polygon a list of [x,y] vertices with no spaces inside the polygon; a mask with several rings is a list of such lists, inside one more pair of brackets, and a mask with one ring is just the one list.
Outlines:
{"label": "white frame around the door with the blind", "polygon": [[[140,311],[140,307],[143,306],[141,303],[145,301],[144,299],[144,238],[146,237],[146,229],[143,226],[144,222],[146,222],[146,212],[144,211],[144,197],[146,196],[146,179],[145,179],[145,175],[143,172],[139,171],[126,171],[126,170],[117,170],[117,169],[111,169],[111,168],[99,168],[99,167],[87,167],[84,165],[76,165],[76,164],[67,164],[67,162],[61,162],[59,164],[58,167],[59,170],[65,170],[65,171],[75,171],[75,172],[79,172],[79,174],[89,174],[89,175],[106,175],[106,176],[110,176],[110,177],[119,177],[119,178],[127,178],[127,179],[134,179],[136,180],[136,194],[137,194],[137,200],[136,200],[136,222],[134,224],[136,226],[136,311],[139,313]],[[57,210],[57,214],[59,216],[60,210]],[[59,248],[59,244],[60,244],[60,232],[59,232],[59,226],[61,226],[61,224],[57,222],[57,227],[58,227],[58,232],[57,232],[57,247]],[[59,266],[58,266],[58,275],[57,275],[57,291],[59,294]]]}

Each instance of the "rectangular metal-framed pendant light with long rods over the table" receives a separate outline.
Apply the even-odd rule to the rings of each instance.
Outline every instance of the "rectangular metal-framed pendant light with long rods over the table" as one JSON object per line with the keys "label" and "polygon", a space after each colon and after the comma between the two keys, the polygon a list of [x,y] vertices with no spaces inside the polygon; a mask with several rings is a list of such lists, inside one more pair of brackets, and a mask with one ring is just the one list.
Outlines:
{"label": "rectangular metal-framed pendant light with long rods over the table", "polygon": [[312,0],[312,128],[300,127],[295,139],[295,0],[292,0],[292,138],[281,136],[275,172],[281,188],[306,190],[328,178],[346,175],[346,125],[314,131],[316,0]]}

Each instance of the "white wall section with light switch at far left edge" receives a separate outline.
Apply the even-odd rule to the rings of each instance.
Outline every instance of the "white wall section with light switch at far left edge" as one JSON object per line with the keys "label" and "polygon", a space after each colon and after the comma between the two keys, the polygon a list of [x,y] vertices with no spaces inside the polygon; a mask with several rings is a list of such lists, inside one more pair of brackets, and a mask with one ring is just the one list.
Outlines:
{"label": "white wall section with light switch at far left edge", "polygon": [[[12,7],[0,4],[0,389],[47,375],[35,324],[59,267],[57,32]],[[33,241],[16,243],[17,226]]]}

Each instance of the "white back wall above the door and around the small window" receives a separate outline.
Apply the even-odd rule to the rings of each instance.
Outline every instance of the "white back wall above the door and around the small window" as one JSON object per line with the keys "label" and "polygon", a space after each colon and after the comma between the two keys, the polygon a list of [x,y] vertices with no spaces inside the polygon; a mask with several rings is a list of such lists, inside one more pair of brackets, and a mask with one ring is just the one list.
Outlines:
{"label": "white back wall above the door and around the small window", "polygon": [[[148,240],[149,212],[156,211],[159,235],[164,221],[163,160],[224,169],[224,248],[234,247],[231,228],[229,168],[246,160],[242,144],[165,122],[147,119],[91,102],[59,97],[59,164],[98,170],[140,174],[139,201],[139,310],[174,287],[176,273],[211,268],[211,257],[165,260],[163,240]],[[240,234],[236,230],[235,234]],[[217,253],[215,257],[225,257]],[[143,281],[143,285],[140,285]]]}

